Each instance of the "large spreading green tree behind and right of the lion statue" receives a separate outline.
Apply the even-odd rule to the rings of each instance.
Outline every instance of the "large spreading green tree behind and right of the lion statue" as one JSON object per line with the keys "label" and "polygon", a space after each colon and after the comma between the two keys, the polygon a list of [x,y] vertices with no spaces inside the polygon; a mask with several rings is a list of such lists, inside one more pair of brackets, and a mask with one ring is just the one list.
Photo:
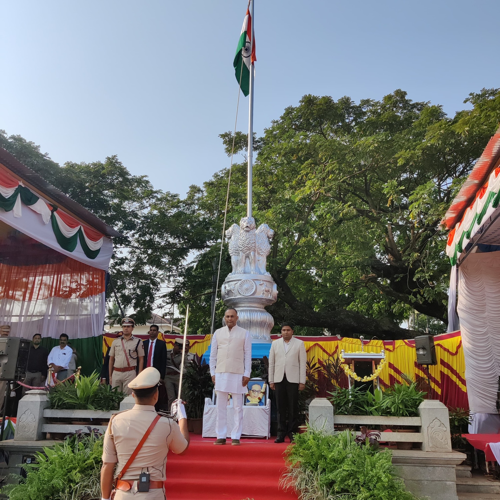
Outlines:
{"label": "large spreading green tree behind and right of the lion statue", "polygon": [[[500,119],[496,89],[465,102],[470,109],[449,117],[401,90],[359,103],[306,95],[255,141],[253,215],[276,231],[268,259],[279,290],[268,307],[275,320],[401,338],[410,335],[401,322],[416,310],[445,327],[449,261],[440,220]],[[222,138],[230,153],[232,134]],[[243,153],[245,138],[234,141]],[[199,201],[200,213],[218,214],[219,231],[227,173],[205,182]],[[228,224],[245,212],[244,176],[244,163],[234,165]],[[214,250],[179,276],[177,300],[210,286]],[[194,301],[194,330],[207,329],[208,298]]]}

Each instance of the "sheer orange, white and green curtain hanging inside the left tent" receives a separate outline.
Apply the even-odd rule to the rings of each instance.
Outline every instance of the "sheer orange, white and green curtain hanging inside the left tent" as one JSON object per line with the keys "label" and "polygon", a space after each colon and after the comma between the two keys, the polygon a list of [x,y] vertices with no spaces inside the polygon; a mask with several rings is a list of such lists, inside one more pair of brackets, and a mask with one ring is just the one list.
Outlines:
{"label": "sheer orange, white and green curtain hanging inside the left tent", "polygon": [[0,323],[10,334],[31,339],[40,333],[51,347],[69,336],[85,371],[101,363],[105,315],[105,272],[70,257],[34,265],[0,263]]}

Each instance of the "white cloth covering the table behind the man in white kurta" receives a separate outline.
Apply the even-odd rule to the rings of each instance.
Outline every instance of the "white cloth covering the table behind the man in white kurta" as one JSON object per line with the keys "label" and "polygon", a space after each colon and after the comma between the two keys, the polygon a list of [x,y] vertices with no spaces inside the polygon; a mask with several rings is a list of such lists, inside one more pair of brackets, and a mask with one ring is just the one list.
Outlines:
{"label": "white cloth covering the table behind the man in white kurta", "polygon": [[[227,436],[231,436],[233,409],[232,401],[226,409]],[[203,437],[215,437],[215,421],[217,409],[209,397],[205,397],[203,409]],[[271,403],[269,399],[265,406],[243,406],[243,436],[269,437],[271,425]]]}

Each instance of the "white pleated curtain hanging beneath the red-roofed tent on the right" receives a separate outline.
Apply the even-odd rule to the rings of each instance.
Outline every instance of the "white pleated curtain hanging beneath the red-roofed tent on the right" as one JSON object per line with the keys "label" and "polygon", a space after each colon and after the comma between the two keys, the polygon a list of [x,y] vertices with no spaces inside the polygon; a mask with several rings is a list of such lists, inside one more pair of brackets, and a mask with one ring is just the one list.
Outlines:
{"label": "white pleated curtain hanging beneath the red-roofed tent on the right", "polygon": [[496,414],[500,374],[500,252],[470,253],[460,265],[457,312],[470,411]]}

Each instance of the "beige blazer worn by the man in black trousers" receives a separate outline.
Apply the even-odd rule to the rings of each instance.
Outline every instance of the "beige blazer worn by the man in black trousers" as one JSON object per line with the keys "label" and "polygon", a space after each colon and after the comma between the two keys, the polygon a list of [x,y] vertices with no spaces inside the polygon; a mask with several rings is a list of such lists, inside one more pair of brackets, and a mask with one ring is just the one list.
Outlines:
{"label": "beige blazer worn by the man in black trousers", "polygon": [[269,383],[280,382],[283,374],[293,383],[305,383],[305,345],[302,340],[291,337],[288,350],[284,350],[284,340],[273,340],[269,351]]}

